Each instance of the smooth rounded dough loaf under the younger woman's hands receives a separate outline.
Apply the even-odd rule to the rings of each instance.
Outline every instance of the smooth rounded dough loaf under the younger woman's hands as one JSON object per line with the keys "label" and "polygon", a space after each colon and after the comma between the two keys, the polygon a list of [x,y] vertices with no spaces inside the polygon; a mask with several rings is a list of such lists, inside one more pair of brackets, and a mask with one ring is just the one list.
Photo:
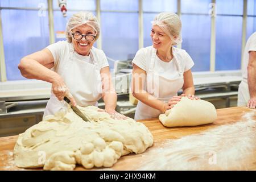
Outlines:
{"label": "smooth rounded dough loaf under the younger woman's hands", "polygon": [[182,97],[172,109],[159,115],[160,122],[167,127],[204,125],[216,118],[216,109],[212,103],[188,97]]}

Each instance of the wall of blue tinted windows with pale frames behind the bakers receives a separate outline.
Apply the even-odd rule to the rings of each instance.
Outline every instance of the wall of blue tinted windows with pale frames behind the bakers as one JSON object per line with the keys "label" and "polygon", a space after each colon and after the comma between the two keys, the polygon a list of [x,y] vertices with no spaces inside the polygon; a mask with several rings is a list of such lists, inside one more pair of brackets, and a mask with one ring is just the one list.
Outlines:
{"label": "wall of blue tinted windows with pale frames behind the bakers", "polygon": [[[25,79],[17,68],[20,59],[48,46],[49,2],[0,0],[0,36],[5,55],[0,61],[5,63],[7,80]],[[65,31],[72,14],[91,11],[101,22],[101,37],[95,46],[114,60],[130,59],[139,48],[151,46],[150,22],[156,14],[177,13],[183,23],[183,43],[179,47],[195,61],[193,72],[241,69],[243,43],[256,31],[256,0],[67,0],[66,18],[59,10],[58,1],[52,3],[55,42],[65,40],[58,38],[57,32]],[[216,43],[211,47],[213,40]],[[110,68],[113,68],[112,61]]]}

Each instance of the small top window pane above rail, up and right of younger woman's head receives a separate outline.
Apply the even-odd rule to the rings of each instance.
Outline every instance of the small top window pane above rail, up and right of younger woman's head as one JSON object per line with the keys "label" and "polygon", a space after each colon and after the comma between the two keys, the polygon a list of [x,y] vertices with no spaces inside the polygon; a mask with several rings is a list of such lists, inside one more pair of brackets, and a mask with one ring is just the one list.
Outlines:
{"label": "small top window pane above rail, up and right of younger woman's head", "polygon": [[181,13],[207,13],[210,11],[210,0],[181,0]]}

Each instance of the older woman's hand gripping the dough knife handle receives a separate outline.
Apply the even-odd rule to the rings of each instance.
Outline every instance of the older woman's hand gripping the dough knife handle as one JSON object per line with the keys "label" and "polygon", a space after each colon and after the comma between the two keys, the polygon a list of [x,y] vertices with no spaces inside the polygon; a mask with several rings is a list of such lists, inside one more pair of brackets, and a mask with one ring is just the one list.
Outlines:
{"label": "older woman's hand gripping the dough knife handle", "polygon": [[76,106],[76,101],[73,98],[72,94],[69,92],[68,87],[66,86],[63,78],[57,78],[52,82],[52,93],[58,98],[59,101],[62,101],[65,96],[69,98],[71,104]]}

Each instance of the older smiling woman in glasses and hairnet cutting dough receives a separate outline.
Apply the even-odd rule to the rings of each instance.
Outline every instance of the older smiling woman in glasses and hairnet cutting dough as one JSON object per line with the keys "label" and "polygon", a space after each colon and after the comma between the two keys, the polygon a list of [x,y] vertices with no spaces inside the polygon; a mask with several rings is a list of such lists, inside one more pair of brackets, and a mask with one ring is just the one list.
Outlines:
{"label": "older smiling woman in glasses and hairnet cutting dough", "polygon": [[80,106],[97,106],[102,97],[107,113],[125,118],[115,111],[117,94],[105,53],[93,47],[99,35],[100,25],[92,13],[76,13],[67,23],[66,41],[22,58],[18,67],[24,77],[52,84],[44,116],[65,108],[63,98],[68,96],[72,105]]}

